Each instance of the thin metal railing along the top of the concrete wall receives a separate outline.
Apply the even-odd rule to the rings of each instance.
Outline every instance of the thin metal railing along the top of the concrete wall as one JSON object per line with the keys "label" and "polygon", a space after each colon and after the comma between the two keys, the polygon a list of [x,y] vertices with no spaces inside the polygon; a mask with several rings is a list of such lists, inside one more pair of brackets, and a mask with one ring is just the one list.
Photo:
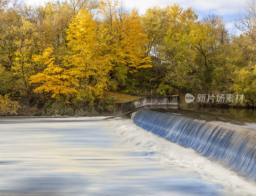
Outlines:
{"label": "thin metal railing along the top of the concrete wall", "polygon": [[[130,96],[138,96],[138,97],[159,97],[159,96],[172,96],[172,95],[179,95],[179,89],[143,89],[140,91],[136,91],[130,94]],[[125,96],[124,95],[124,96]]]}

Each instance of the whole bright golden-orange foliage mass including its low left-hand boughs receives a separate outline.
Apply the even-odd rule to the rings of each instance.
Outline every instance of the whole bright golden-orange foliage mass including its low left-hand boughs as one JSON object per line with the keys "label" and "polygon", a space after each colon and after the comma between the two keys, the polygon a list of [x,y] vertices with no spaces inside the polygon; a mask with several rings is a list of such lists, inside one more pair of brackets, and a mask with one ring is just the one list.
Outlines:
{"label": "whole bright golden-orange foliage mass including its low left-hand boughs", "polygon": [[56,63],[53,47],[33,56],[35,63],[45,67],[43,72],[30,76],[30,82],[38,85],[34,92],[93,102],[111,85],[111,74],[118,84],[124,82],[128,72],[151,66],[143,48],[147,38],[138,13],[126,11],[118,16],[116,5],[101,2],[102,18],[98,21],[87,10],[78,11],[66,31],[67,49],[61,63]]}

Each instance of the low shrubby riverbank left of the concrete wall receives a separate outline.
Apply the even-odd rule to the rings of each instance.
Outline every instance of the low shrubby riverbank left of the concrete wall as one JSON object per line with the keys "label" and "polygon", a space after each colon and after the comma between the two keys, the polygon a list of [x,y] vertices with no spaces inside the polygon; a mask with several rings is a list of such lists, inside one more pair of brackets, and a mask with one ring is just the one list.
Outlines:
{"label": "low shrubby riverbank left of the concrete wall", "polygon": [[0,97],[0,116],[72,116],[95,117],[112,116],[114,104],[129,102],[138,96],[105,91],[104,95],[91,101],[70,99],[58,96],[54,99],[30,102],[13,101],[10,97]]}

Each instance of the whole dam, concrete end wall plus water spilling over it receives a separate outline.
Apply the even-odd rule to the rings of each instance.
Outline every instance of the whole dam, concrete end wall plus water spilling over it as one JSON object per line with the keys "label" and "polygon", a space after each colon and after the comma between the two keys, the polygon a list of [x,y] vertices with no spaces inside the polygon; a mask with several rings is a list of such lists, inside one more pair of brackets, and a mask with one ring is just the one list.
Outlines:
{"label": "whole dam, concrete end wall plus water spilling over it", "polygon": [[[129,112],[130,111],[130,112]],[[124,114],[124,115],[122,115]],[[204,118],[179,110],[179,95],[143,97],[116,103],[114,115],[130,118],[146,131],[192,148],[238,175],[256,181],[256,126],[232,118]]]}

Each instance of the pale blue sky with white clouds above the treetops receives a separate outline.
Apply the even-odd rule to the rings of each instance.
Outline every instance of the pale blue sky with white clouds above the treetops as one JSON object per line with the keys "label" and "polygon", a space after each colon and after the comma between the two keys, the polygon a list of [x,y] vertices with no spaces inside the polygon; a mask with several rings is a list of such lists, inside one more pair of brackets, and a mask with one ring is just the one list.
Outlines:
{"label": "pale blue sky with white clouds above the treetops", "polygon": [[[46,0],[28,0],[28,4],[43,4]],[[199,15],[199,19],[202,17],[215,13],[223,16],[226,19],[227,27],[229,31],[232,31],[234,26],[232,20],[240,11],[243,11],[245,0],[123,0],[127,7],[137,7],[140,10],[140,14],[144,13],[147,8],[152,5],[159,5],[164,7],[166,5],[172,5],[174,3],[179,4],[184,9],[192,7],[193,10]],[[234,29],[234,31],[236,31]]]}

